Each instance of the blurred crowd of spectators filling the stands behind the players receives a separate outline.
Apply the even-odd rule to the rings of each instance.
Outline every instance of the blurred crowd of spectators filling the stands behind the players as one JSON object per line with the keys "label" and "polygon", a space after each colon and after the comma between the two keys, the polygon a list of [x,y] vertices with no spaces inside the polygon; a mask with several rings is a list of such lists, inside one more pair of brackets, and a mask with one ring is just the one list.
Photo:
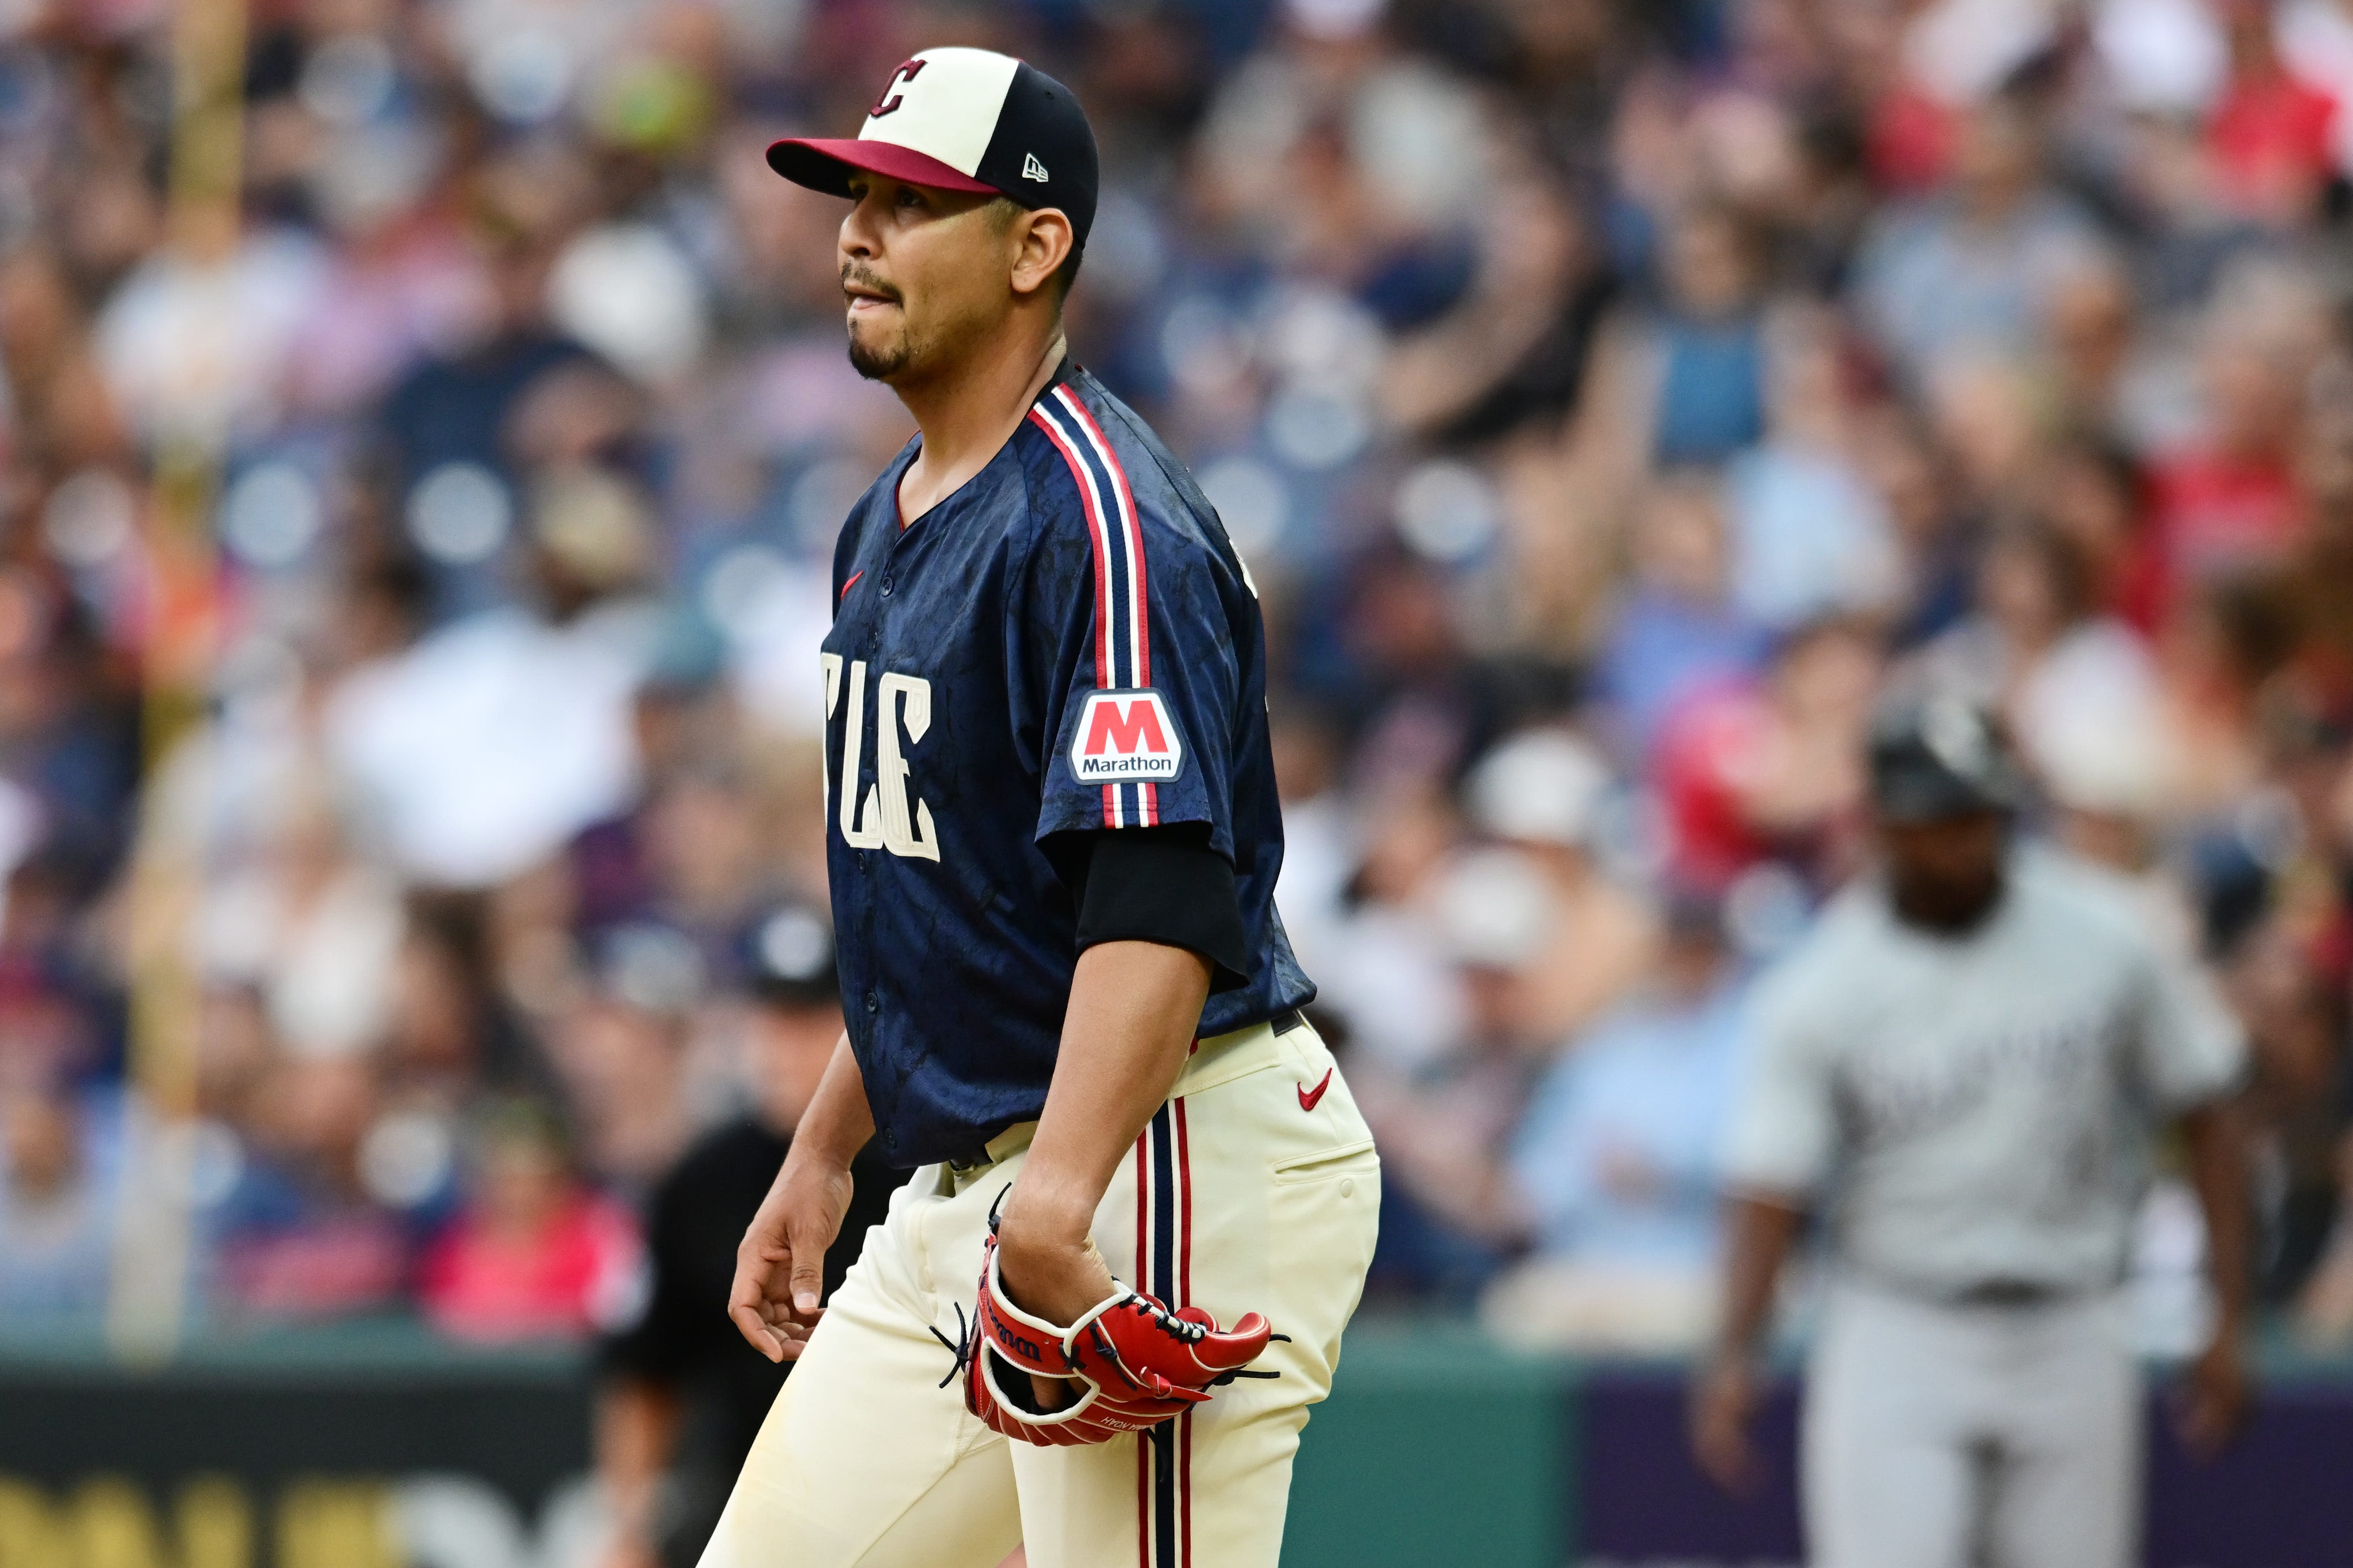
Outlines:
{"label": "blurred crowd of spectators filling the stands behind the players", "polygon": [[172,14],[0,2],[0,1316],[106,1300],[158,994],[205,1321],[633,1314],[809,1006],[826,559],[911,435],[760,153],[972,42],[1087,103],[1073,350],[1264,595],[1374,1291],[1699,1333],[1744,992],[1920,677],[2214,966],[2266,1295],[2353,1335],[2353,0],[252,0],[233,223]]}

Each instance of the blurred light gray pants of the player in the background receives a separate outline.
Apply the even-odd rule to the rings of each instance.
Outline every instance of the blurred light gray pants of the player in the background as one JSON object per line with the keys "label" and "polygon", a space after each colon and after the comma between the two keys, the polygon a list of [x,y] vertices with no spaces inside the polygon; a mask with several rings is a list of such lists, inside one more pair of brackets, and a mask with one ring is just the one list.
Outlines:
{"label": "blurred light gray pants of the player in the background", "polygon": [[1812,1568],[2127,1568],[2141,1375],[2118,1298],[1995,1307],[1838,1286],[1800,1467]]}

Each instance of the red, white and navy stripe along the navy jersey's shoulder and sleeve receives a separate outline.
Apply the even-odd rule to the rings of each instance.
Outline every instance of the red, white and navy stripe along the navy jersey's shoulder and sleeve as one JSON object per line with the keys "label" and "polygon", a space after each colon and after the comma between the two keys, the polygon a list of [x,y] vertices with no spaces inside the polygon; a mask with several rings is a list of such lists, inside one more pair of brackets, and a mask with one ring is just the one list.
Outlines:
{"label": "red, white and navy stripe along the navy jersey's shoulder and sleeve", "polygon": [[[1153,611],[1144,574],[1144,520],[1127,470],[1111,437],[1068,386],[1052,388],[1031,409],[1054,451],[1071,465],[1087,512],[1094,550],[1094,684],[1127,691],[1153,684]],[[1106,783],[1104,827],[1148,827],[1160,820],[1160,785]]]}

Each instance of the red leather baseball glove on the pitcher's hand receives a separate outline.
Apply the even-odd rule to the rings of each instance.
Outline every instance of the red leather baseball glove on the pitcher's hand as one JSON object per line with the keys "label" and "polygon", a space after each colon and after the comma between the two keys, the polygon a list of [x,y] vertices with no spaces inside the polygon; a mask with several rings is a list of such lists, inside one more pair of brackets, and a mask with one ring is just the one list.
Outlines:
{"label": "red leather baseball glove on the pitcher's hand", "polygon": [[[1278,1338],[1257,1312],[1228,1331],[1200,1307],[1172,1312],[1125,1286],[1068,1328],[1047,1324],[1005,1295],[991,1227],[981,1244],[979,1309],[965,1340],[965,1408],[1021,1443],[1108,1443],[1191,1410],[1235,1378],[1273,1378],[1242,1368]],[[1078,1399],[1042,1410],[1031,1378],[1066,1380]]]}

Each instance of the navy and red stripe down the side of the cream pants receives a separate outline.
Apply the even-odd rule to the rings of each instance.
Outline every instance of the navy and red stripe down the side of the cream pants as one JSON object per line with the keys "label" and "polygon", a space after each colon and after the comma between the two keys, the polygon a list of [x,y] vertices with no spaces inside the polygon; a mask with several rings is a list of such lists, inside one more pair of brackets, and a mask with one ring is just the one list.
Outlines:
{"label": "navy and red stripe down the side of the cream pants", "polygon": [[[1193,1305],[1193,1147],[1184,1100],[1136,1138],[1136,1288]],[[1193,1413],[1136,1434],[1136,1568],[1193,1568]]]}

